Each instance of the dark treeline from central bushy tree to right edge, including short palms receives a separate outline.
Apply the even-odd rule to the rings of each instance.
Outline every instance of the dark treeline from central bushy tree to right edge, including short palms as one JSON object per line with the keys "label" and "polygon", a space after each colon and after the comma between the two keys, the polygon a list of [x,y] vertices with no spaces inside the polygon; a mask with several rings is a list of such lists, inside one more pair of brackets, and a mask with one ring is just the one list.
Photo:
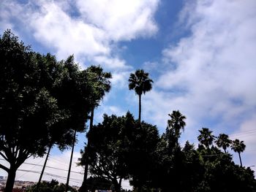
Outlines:
{"label": "dark treeline from central bushy tree to right edge, including short palms", "polygon": [[189,142],[181,147],[184,120],[173,111],[159,136],[156,126],[140,123],[129,112],[104,115],[87,135],[91,147],[83,150],[80,164],[89,156],[91,174],[107,178],[115,191],[121,191],[121,180],[129,180],[135,191],[256,191],[252,169],[236,165],[227,153],[231,147],[240,154],[243,142],[202,128],[198,147]]}

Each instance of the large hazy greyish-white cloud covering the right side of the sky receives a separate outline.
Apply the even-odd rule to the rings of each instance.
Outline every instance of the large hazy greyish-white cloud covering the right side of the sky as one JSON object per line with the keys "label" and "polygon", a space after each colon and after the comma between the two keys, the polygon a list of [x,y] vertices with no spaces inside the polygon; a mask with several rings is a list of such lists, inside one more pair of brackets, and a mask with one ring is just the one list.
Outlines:
{"label": "large hazy greyish-white cloud covering the right side of the sky", "polygon": [[255,9],[253,0],[185,4],[180,22],[189,32],[162,51],[165,72],[146,95],[148,119],[166,123],[181,110],[190,139],[203,126],[233,133],[255,115]]}

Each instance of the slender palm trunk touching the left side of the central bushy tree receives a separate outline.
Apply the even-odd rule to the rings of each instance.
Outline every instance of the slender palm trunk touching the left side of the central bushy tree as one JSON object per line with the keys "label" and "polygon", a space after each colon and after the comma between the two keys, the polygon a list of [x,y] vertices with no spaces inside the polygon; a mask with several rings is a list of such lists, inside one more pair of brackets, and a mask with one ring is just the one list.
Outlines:
{"label": "slender palm trunk touching the left side of the central bushy tree", "polygon": [[[91,130],[92,126],[94,124],[94,108],[91,110],[91,117],[90,117],[90,126],[89,126],[89,131]],[[87,138],[87,150],[90,150],[90,139]],[[86,155],[86,165],[84,166],[84,174],[83,174],[83,183],[82,186],[80,187],[79,191],[80,192],[87,192],[87,177],[88,177],[88,170],[89,170],[89,163],[88,163],[88,155]]]}

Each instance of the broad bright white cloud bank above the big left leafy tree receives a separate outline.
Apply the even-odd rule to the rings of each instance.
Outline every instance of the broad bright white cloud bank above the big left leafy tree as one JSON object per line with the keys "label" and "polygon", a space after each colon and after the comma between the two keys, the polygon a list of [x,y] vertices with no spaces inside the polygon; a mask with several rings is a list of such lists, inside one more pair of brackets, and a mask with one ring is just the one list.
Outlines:
{"label": "broad bright white cloud bank above the big left leafy tree", "polygon": [[154,35],[158,1],[3,1],[1,30],[20,27],[61,59],[75,54],[82,63],[119,69],[127,64],[113,45]]}

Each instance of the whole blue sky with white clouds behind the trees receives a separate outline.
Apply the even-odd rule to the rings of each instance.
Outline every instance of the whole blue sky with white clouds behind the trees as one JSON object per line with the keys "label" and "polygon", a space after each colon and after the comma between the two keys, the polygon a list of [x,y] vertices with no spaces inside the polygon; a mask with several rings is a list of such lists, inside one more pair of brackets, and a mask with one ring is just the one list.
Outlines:
{"label": "whole blue sky with white clouds behind the trees", "polygon": [[[112,88],[95,112],[138,118],[138,96],[128,89],[129,74],[144,69],[154,80],[142,96],[142,119],[165,131],[168,114],[187,117],[181,145],[197,144],[199,129],[244,140],[244,166],[256,166],[256,1],[255,0],[3,0],[0,34],[11,28],[26,45],[61,59],[75,55],[81,69],[101,65],[113,74]],[[86,142],[78,135],[72,185],[83,179],[75,165]],[[230,149],[228,149],[230,151]],[[67,169],[70,151],[54,149],[48,166]],[[43,158],[20,169],[37,170]],[[233,154],[238,164],[238,155]],[[1,163],[4,163],[0,160]],[[45,172],[67,171],[47,168]],[[6,175],[0,170],[0,175]],[[17,172],[20,180],[38,173]],[[44,176],[43,180],[56,179]],[[64,178],[59,178],[65,182]],[[124,188],[128,186],[124,182]]]}

